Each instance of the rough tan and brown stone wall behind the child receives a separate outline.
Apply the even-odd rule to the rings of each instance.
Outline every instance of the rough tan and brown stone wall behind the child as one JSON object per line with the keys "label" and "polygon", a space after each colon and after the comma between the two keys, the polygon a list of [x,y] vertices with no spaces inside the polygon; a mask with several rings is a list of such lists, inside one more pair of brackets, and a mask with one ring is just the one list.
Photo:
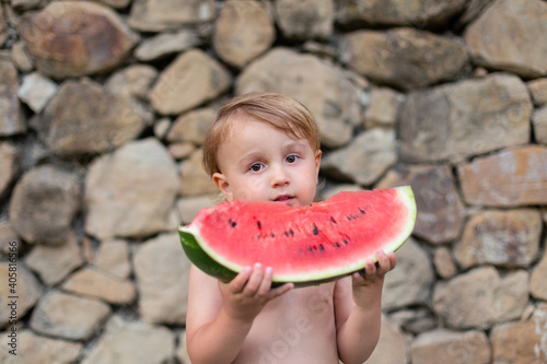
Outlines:
{"label": "rough tan and brown stone wall behind the child", "polygon": [[203,132],[278,91],[319,195],[416,195],[368,363],[546,363],[546,34],[540,0],[2,0],[0,362],[189,363]]}

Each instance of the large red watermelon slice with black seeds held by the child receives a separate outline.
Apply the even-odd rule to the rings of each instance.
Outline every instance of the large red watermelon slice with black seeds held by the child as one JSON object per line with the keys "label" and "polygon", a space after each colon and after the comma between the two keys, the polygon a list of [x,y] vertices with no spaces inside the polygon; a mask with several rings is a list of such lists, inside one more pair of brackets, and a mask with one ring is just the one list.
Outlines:
{"label": "large red watermelon slice with black seeds held by the child", "polygon": [[178,226],[183,248],[203,272],[224,282],[260,262],[274,282],[305,286],[364,268],[379,249],[395,251],[416,221],[409,186],[339,192],[291,208],[278,202],[222,202]]}

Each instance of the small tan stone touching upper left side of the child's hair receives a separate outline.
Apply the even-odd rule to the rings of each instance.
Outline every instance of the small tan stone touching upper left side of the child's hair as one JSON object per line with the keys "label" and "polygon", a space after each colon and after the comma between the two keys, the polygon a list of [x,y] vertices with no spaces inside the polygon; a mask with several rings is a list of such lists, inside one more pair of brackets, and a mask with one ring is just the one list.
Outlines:
{"label": "small tan stone touching upper left side of the child's hair", "polygon": [[168,142],[191,142],[201,145],[214,121],[213,108],[197,108],[178,116],[167,133]]}

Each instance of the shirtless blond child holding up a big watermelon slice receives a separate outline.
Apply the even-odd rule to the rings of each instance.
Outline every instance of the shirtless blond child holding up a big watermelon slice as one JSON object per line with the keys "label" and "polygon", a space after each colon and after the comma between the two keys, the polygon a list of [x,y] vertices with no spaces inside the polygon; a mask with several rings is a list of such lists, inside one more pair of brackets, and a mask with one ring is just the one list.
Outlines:
{"label": "shirtless blond child holding up a big watermelon slice", "polygon": [[[310,111],[279,94],[224,105],[203,145],[203,165],[228,201],[313,202],[322,152]],[[396,258],[379,251],[364,272],[317,286],[271,287],[257,261],[230,283],[191,267],[187,350],[201,363],[363,363],[380,337],[384,274]]]}

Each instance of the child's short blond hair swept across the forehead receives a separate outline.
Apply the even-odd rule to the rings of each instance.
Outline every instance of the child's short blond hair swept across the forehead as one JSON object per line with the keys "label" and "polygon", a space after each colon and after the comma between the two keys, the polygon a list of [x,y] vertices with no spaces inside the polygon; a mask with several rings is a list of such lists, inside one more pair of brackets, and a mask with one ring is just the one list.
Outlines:
{"label": "child's short blond hair swept across the forehead", "polygon": [[312,113],[300,102],[277,93],[251,93],[237,96],[217,111],[213,125],[203,142],[202,163],[212,176],[220,173],[218,152],[235,116],[267,122],[291,138],[305,138],[313,151],[321,148],[321,132]]}

